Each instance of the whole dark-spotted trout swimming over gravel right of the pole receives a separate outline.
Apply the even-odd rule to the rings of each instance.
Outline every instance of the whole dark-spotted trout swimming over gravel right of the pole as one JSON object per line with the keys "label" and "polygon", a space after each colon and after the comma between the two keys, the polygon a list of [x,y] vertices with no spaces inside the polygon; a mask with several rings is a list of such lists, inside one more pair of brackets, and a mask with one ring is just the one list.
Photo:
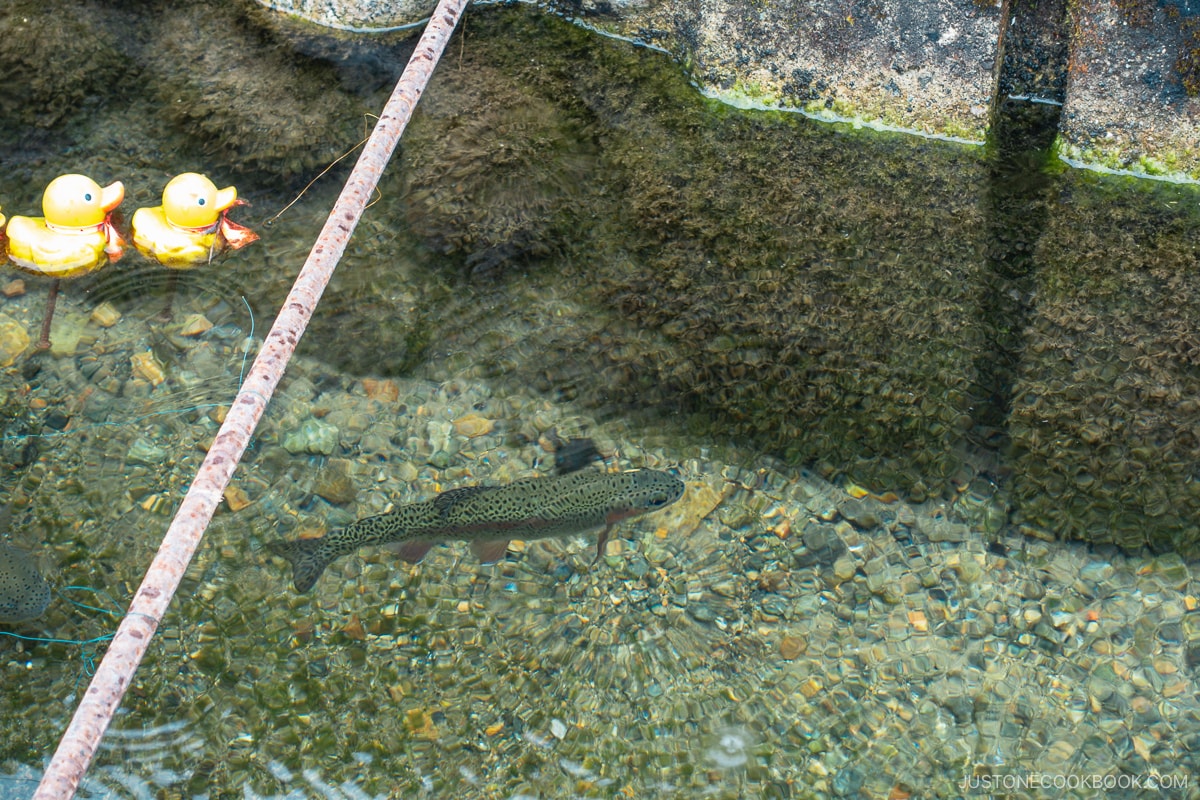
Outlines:
{"label": "whole dark-spotted trout swimming over gravel right of the pole", "polygon": [[504,557],[510,539],[571,536],[604,528],[596,545],[599,558],[614,524],[668,506],[682,495],[678,477],[653,469],[526,477],[508,486],[450,489],[320,539],[266,547],[292,563],[296,591],[308,591],[332,561],[368,545],[400,543],[402,558],[420,561],[434,543],[464,539],[488,564]]}

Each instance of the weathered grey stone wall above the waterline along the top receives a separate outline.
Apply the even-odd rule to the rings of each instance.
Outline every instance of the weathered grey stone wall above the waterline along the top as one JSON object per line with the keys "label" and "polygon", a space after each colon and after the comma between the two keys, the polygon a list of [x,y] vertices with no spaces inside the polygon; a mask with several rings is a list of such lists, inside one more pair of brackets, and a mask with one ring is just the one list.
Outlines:
{"label": "weathered grey stone wall above the waterline along the top", "polygon": [[[350,30],[419,25],[430,0],[259,0]],[[1200,178],[1200,16],[1187,0],[554,0],[598,32],[668,53],[739,106],[982,142],[997,88],[1062,106],[1073,163]],[[1048,11],[1050,13],[1048,13]],[[1066,14],[1066,18],[1063,18]],[[1028,17],[1043,36],[1006,41]],[[1026,20],[1027,22],[1027,20]],[[1018,37],[1012,37],[1018,40]],[[1038,47],[1069,43],[1069,60]],[[1006,60],[1003,48],[1036,47]],[[1012,54],[1009,54],[1012,55]],[[1007,65],[1007,66],[1006,66]],[[1012,91],[1002,71],[1031,77]],[[1051,74],[1046,74],[1046,73]],[[1066,85],[1043,96],[1042,86]]]}

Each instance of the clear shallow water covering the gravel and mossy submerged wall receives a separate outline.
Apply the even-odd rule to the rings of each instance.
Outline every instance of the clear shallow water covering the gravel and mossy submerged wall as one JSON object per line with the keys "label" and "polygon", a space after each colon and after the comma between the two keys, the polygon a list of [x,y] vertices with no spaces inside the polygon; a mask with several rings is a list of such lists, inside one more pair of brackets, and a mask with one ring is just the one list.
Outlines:
{"label": "clear shallow water covering the gravel and mossy submerged wall", "polygon": [[[214,48],[246,24],[217,22]],[[1018,166],[1001,192],[979,150],[713,107],[659,56],[557,20],[473,13],[467,31],[92,796],[959,796],[978,775],[1194,775],[1195,565],[1018,530],[1194,524],[1190,190]],[[86,114],[11,126],[0,155],[7,213],[67,168],[125,180],[127,213],[200,169],[239,186],[236,218],[263,234],[181,287],[176,318],[204,313],[208,335],[154,321],[162,272],[131,254],[64,290],[64,319],[108,301],[115,326],[5,371],[8,533],[94,607],[60,596],[28,636],[115,628],[102,596],[65,587],[132,594],[251,315],[260,338],[338,190],[335,174],[266,225],[319,166],[252,128],[233,146],[236,114],[164,116],[158,59],[184,46],[122,44],[166,88],[118,82]],[[355,118],[317,120],[336,156],[382,103],[380,82],[350,79],[368,62],[260,72]],[[995,285],[1014,305],[989,302]],[[28,289],[0,312],[32,330],[46,289]],[[132,375],[145,350],[157,387]],[[332,452],[298,449],[330,427]],[[673,467],[688,495],[595,566],[584,537],[488,567],[462,546],[416,567],[362,553],[296,596],[257,552],[545,470],[554,432]],[[0,648],[0,793],[19,798],[102,644]]]}

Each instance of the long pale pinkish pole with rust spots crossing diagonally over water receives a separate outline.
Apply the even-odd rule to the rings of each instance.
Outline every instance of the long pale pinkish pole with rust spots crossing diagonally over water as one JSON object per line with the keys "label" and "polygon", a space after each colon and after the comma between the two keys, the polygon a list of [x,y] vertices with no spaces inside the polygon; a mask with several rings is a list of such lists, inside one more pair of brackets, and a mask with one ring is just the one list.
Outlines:
{"label": "long pale pinkish pole with rust spots crossing diagonally over water", "polygon": [[467,0],[440,0],[425,26],[416,50],[325,219],[325,227],[275,318],[224,425],[197,470],[157,555],[79,700],[71,724],[34,793],[34,800],[68,800],[74,796],[466,5]]}

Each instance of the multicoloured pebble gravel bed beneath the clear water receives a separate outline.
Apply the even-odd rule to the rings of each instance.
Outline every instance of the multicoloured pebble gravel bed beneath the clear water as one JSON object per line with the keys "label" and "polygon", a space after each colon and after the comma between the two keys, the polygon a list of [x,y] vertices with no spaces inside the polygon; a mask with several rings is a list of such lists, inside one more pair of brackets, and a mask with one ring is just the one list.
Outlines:
{"label": "multicoloured pebble gravel bed beneath the clear water", "polygon": [[[28,325],[40,300],[31,289],[0,312]],[[176,302],[180,323],[212,327],[185,336],[128,307],[103,327],[67,295],[60,313],[86,320],[84,344],[5,371],[6,457],[37,447],[6,487],[14,530],[44,539],[60,590],[24,634],[115,627],[64,588],[130,596],[232,398],[245,314],[203,290]],[[139,373],[143,351],[161,381]],[[596,564],[586,536],[514,542],[490,566],[462,543],[419,565],[364,551],[296,595],[259,552],[547,473],[566,435],[595,438],[613,468],[677,470],[684,499],[623,524]],[[1100,780],[1075,794],[1104,796],[1104,778],[1194,775],[1196,567],[985,535],[965,521],[988,501],[910,505],[533,392],[348,378],[301,356],[89,787],[894,798],[1038,774]],[[0,638],[10,780],[36,776],[102,648]]]}

